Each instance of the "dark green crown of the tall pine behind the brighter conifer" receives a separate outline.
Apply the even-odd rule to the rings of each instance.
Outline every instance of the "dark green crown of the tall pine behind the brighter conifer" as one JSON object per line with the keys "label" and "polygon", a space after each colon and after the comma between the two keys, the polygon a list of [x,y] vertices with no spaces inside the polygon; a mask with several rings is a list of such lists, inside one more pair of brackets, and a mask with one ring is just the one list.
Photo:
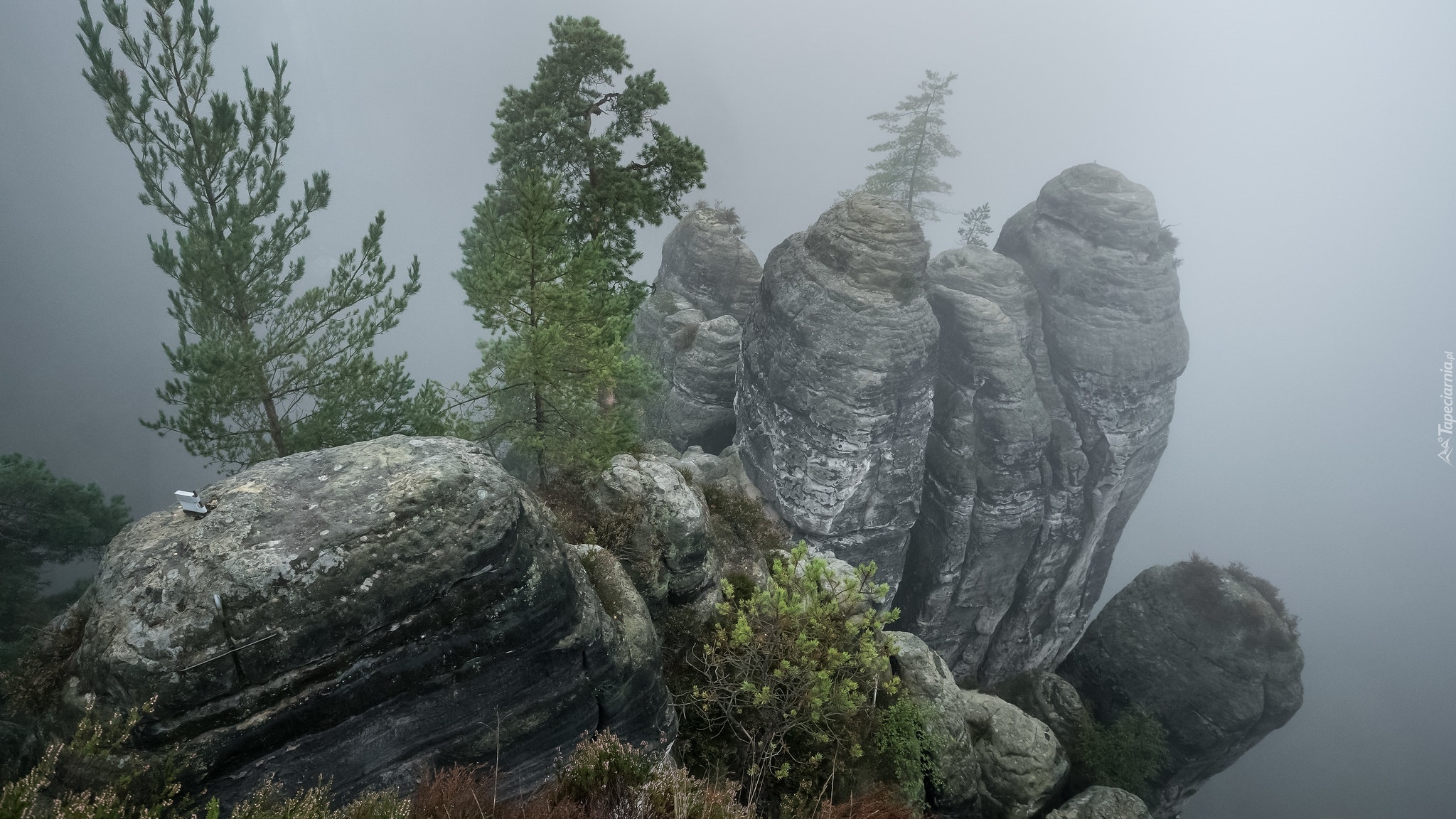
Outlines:
{"label": "dark green crown of the tall pine behind the brighter conifer", "polygon": [[[613,289],[635,299],[630,315],[646,293],[629,278],[642,258],[635,227],[680,217],[683,195],[703,187],[708,159],[655,117],[668,102],[657,71],[623,74],[632,63],[620,36],[594,17],[556,17],[550,35],[552,51],[537,61],[530,87],[505,89],[491,162],[499,163],[502,178],[540,171],[561,179],[568,238],[597,242]],[[623,162],[626,143],[635,140],[644,140],[642,147]]]}

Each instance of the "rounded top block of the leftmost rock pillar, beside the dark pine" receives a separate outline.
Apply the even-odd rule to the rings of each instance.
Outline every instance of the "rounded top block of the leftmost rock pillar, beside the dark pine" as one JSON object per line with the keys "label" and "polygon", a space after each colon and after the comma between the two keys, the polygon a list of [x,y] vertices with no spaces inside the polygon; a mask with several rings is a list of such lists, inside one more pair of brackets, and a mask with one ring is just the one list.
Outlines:
{"label": "rounded top block of the leftmost rock pillar, beside the dark pine", "polygon": [[759,299],[763,265],[743,242],[738,214],[729,208],[699,205],[687,211],[662,242],[662,264],[655,290],[680,293],[703,316],[748,321]]}

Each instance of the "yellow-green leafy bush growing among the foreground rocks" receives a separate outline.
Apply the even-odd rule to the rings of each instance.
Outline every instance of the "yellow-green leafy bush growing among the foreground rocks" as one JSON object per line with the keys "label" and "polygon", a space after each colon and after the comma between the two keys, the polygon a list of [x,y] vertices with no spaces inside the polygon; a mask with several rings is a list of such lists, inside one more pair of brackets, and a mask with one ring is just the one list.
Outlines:
{"label": "yellow-green leafy bush growing among the foreground rocks", "polygon": [[[801,542],[761,587],[724,581],[724,602],[671,683],[692,767],[741,781],[756,809],[786,813],[874,778],[865,746],[881,723],[877,705],[893,707],[898,688],[882,635],[898,612],[865,605],[888,592],[874,573],[871,564],[836,576]],[[881,737],[891,755],[901,734]]]}

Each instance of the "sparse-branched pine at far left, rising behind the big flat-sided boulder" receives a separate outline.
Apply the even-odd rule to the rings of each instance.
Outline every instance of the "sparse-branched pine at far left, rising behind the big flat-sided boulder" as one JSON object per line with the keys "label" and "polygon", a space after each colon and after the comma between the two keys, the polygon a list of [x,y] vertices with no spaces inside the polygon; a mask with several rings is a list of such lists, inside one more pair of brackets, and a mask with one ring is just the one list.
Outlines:
{"label": "sparse-branched pine at far left, rising behind the big flat-sided boulder", "polygon": [[147,0],[140,36],[125,3],[100,7],[137,70],[137,93],[84,0],[83,76],[131,152],[143,204],[176,226],[147,240],[175,283],[167,312],[178,338],[163,347],[178,377],[157,391],[170,412],[143,423],[224,468],[396,431],[444,431],[443,391],[427,383],[412,395],[405,357],[379,360],[370,350],[419,290],[418,258],[403,289],[389,289],[383,211],[328,284],[294,293],[304,259],[290,256],[331,189],[320,171],[280,213],[294,117],[278,47],[268,58],[271,87],[255,86],[245,68],[239,102],[208,87],[218,28],[207,0]]}

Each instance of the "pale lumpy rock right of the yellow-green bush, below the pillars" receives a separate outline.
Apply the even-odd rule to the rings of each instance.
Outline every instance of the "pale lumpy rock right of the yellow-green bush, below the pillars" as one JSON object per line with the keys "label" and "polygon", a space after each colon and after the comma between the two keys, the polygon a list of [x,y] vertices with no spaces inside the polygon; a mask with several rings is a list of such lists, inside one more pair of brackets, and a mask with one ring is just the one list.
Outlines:
{"label": "pale lumpy rock right of the yellow-green bush, below the pillars", "polygon": [[938,762],[945,778],[935,812],[951,818],[1028,819],[1066,783],[1069,764],[1057,737],[1015,705],[964,691],[941,656],[913,634],[891,632],[906,695],[925,705],[932,732],[948,737]]}

